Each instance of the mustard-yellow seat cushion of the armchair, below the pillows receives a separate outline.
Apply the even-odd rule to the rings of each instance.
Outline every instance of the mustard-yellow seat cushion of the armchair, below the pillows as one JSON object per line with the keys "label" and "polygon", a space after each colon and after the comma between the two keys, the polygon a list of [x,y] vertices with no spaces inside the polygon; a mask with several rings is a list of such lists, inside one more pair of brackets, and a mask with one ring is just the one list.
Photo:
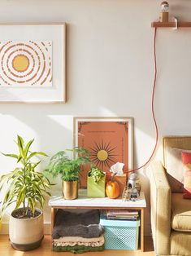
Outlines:
{"label": "mustard-yellow seat cushion of the armchair, below the pillows", "polygon": [[180,232],[191,232],[191,203],[180,193],[171,194],[171,227]]}

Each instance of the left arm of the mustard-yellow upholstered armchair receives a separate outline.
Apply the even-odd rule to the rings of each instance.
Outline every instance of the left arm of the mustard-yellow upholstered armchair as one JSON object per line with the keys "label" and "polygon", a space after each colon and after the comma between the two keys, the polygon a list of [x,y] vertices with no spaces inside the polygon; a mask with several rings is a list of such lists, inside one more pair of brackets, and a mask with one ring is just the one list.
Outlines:
{"label": "left arm of the mustard-yellow upholstered armchair", "polygon": [[150,218],[156,255],[170,254],[171,188],[160,161],[150,164]]}

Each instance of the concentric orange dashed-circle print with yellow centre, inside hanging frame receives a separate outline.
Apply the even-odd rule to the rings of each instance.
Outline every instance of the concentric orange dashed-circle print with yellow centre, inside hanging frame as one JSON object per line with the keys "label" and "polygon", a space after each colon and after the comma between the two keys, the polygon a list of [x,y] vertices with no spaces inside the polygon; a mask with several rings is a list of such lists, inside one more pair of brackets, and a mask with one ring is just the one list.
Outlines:
{"label": "concentric orange dashed-circle print with yellow centre, inside hanging frame", "polygon": [[52,86],[52,43],[1,42],[0,86]]}

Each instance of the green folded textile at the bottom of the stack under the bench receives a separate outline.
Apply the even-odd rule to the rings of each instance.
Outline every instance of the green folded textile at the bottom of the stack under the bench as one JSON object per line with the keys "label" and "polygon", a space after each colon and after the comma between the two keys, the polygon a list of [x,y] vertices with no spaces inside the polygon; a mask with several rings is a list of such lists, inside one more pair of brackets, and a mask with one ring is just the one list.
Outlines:
{"label": "green folded textile at the bottom of the stack under the bench", "polygon": [[53,246],[53,250],[57,252],[71,252],[73,254],[83,254],[85,252],[98,252],[104,249],[104,245],[98,247],[91,247],[85,245],[75,246]]}

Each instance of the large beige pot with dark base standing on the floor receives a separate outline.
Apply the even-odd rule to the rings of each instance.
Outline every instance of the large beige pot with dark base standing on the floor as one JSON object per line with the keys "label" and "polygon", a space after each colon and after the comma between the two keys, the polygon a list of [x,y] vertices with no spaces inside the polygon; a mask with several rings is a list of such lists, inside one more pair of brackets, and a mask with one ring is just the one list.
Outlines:
{"label": "large beige pot with dark base standing on the floor", "polygon": [[31,250],[41,245],[44,237],[43,214],[40,209],[36,209],[41,214],[35,218],[15,218],[14,210],[9,221],[9,238],[14,249]]}

